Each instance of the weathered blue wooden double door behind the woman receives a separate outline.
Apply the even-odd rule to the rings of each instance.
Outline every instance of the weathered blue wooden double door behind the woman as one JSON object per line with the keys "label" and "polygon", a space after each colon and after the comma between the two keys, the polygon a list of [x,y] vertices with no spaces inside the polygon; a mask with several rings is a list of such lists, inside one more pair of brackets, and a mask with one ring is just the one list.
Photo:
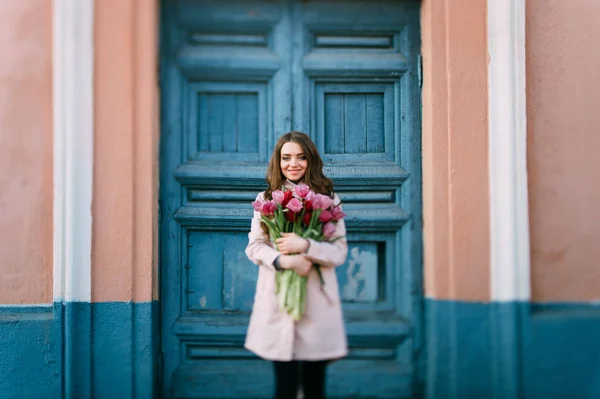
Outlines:
{"label": "weathered blue wooden double door behind the woman", "polygon": [[421,348],[417,1],[164,1],[162,393],[267,398],[243,347],[257,267],[250,202],[280,134],[310,134],[345,202],[337,269],[350,344],[331,397],[418,393]]}

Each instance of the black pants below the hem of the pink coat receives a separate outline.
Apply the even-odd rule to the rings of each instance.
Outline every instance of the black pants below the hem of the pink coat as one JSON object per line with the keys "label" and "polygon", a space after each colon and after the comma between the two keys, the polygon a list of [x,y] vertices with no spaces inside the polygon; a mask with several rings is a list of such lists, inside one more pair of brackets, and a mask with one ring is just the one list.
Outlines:
{"label": "black pants below the hem of the pink coat", "polygon": [[327,360],[273,362],[275,399],[296,399],[301,385],[304,399],[325,398]]}

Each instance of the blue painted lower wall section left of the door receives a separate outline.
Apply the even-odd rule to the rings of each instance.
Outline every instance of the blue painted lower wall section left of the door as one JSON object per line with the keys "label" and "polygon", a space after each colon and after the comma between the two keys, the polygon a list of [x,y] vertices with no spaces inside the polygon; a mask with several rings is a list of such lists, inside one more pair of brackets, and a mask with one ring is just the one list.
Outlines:
{"label": "blue painted lower wall section left of the door", "polygon": [[158,303],[0,308],[0,397],[155,398]]}

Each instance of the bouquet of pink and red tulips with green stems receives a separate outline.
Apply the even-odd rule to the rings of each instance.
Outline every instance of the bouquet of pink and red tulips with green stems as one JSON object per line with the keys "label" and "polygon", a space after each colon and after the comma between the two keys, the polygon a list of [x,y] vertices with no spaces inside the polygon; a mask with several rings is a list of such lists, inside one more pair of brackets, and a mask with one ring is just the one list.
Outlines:
{"label": "bouquet of pink and red tulips with green stems", "polygon": [[[333,200],[322,194],[315,194],[306,184],[300,184],[295,191],[273,191],[270,201],[254,201],[252,207],[260,212],[261,221],[267,226],[271,242],[281,237],[281,233],[296,233],[315,241],[329,241],[335,232],[335,223],[345,216]],[[340,237],[341,238],[341,237]],[[325,284],[320,266],[313,265],[321,284]],[[282,270],[276,275],[276,293],[279,309],[300,320],[306,305],[306,276],[293,270]]]}

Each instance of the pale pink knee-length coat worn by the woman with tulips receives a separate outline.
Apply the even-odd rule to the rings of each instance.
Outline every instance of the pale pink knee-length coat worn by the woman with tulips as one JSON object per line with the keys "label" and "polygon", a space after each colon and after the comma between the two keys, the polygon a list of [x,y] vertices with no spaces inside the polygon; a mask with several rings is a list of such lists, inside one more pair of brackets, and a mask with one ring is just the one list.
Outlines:
{"label": "pale pink knee-length coat worn by the woman with tulips", "polygon": [[[295,184],[286,181],[287,188]],[[262,200],[260,193],[257,199]],[[336,196],[334,203],[340,200]],[[344,221],[339,220],[333,237],[344,236]],[[260,214],[254,212],[252,228],[248,234],[246,255],[258,268],[258,281],[254,305],[246,335],[245,347],[268,360],[328,360],[348,354],[344,319],[335,267],[346,261],[348,245],[341,238],[334,243],[310,240],[307,258],[321,265],[324,290],[313,269],[308,276],[306,309],[299,321],[279,311],[275,296],[275,267],[273,262],[280,254],[269,242],[260,227]],[[329,299],[329,298],[330,299]]]}

